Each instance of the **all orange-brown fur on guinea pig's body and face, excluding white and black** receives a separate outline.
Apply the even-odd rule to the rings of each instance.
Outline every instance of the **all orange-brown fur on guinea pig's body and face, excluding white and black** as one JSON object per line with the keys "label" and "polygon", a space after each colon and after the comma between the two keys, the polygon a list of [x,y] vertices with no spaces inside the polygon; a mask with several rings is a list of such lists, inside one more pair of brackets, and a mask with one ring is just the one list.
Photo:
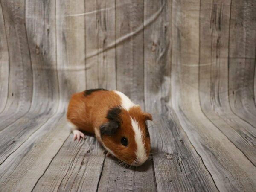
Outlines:
{"label": "all orange-brown fur on guinea pig's body and face, excluding white and black", "polygon": [[[121,98],[113,91],[96,91],[90,95],[84,96],[84,92],[75,93],[70,99],[67,111],[67,119],[75,124],[80,130],[94,134],[94,128],[99,131],[100,125],[108,122],[106,119],[108,110],[121,105]],[[150,137],[147,137],[145,121],[152,116],[143,112],[139,106],[130,108],[129,111],[121,110],[120,127],[114,136],[103,135],[97,139],[102,142],[105,147],[113,151],[114,155],[120,160],[131,164],[136,159],[135,151],[137,145],[135,142],[135,134],[131,126],[131,117],[139,123],[139,127],[143,133],[143,141],[147,155],[150,153]],[[128,138],[128,146],[120,143],[122,137]]]}

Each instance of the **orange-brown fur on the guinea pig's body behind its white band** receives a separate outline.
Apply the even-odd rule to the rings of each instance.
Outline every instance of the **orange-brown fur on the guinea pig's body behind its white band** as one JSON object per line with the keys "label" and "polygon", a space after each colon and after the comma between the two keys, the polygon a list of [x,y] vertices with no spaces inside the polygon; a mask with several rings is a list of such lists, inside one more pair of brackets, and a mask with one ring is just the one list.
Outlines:
{"label": "orange-brown fur on the guinea pig's body behind its white band", "polygon": [[94,134],[93,128],[99,128],[107,122],[109,108],[120,105],[120,97],[113,91],[99,90],[84,96],[84,92],[75,93],[70,99],[67,109],[67,119],[79,130]]}

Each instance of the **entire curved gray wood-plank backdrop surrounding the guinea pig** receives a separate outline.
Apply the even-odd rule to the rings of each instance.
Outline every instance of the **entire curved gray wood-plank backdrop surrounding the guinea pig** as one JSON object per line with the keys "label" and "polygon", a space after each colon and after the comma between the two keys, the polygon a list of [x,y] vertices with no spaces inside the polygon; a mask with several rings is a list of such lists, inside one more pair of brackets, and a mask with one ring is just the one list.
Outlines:
{"label": "entire curved gray wood-plank backdrop surrounding the guinea pig", "polygon": [[[255,0],[0,0],[0,191],[255,191]],[[77,143],[76,91],[153,114],[152,160]]]}

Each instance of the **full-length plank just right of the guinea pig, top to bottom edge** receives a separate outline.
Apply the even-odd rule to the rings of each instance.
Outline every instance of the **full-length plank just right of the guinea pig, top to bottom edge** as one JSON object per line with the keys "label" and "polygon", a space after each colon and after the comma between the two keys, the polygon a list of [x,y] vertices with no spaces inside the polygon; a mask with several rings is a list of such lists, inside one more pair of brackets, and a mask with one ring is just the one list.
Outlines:
{"label": "full-length plank just right of the guinea pig, top to bottom edge", "polygon": [[157,191],[217,191],[175,112],[166,105],[171,92],[172,1],[159,2],[157,6],[155,2],[145,2],[145,19],[150,20],[159,10],[160,15],[144,31],[145,102],[146,110],[153,113],[149,131]]}

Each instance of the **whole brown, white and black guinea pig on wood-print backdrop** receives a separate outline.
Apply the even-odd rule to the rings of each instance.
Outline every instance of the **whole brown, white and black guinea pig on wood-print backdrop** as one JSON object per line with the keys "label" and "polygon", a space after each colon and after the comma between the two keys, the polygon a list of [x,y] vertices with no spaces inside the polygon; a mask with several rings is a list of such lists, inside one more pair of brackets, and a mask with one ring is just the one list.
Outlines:
{"label": "whole brown, white and black guinea pig on wood-print backdrop", "polygon": [[152,116],[119,91],[92,89],[73,94],[67,119],[73,126],[74,140],[84,138],[81,130],[87,131],[125,163],[140,166],[148,159],[150,137],[145,121]]}

